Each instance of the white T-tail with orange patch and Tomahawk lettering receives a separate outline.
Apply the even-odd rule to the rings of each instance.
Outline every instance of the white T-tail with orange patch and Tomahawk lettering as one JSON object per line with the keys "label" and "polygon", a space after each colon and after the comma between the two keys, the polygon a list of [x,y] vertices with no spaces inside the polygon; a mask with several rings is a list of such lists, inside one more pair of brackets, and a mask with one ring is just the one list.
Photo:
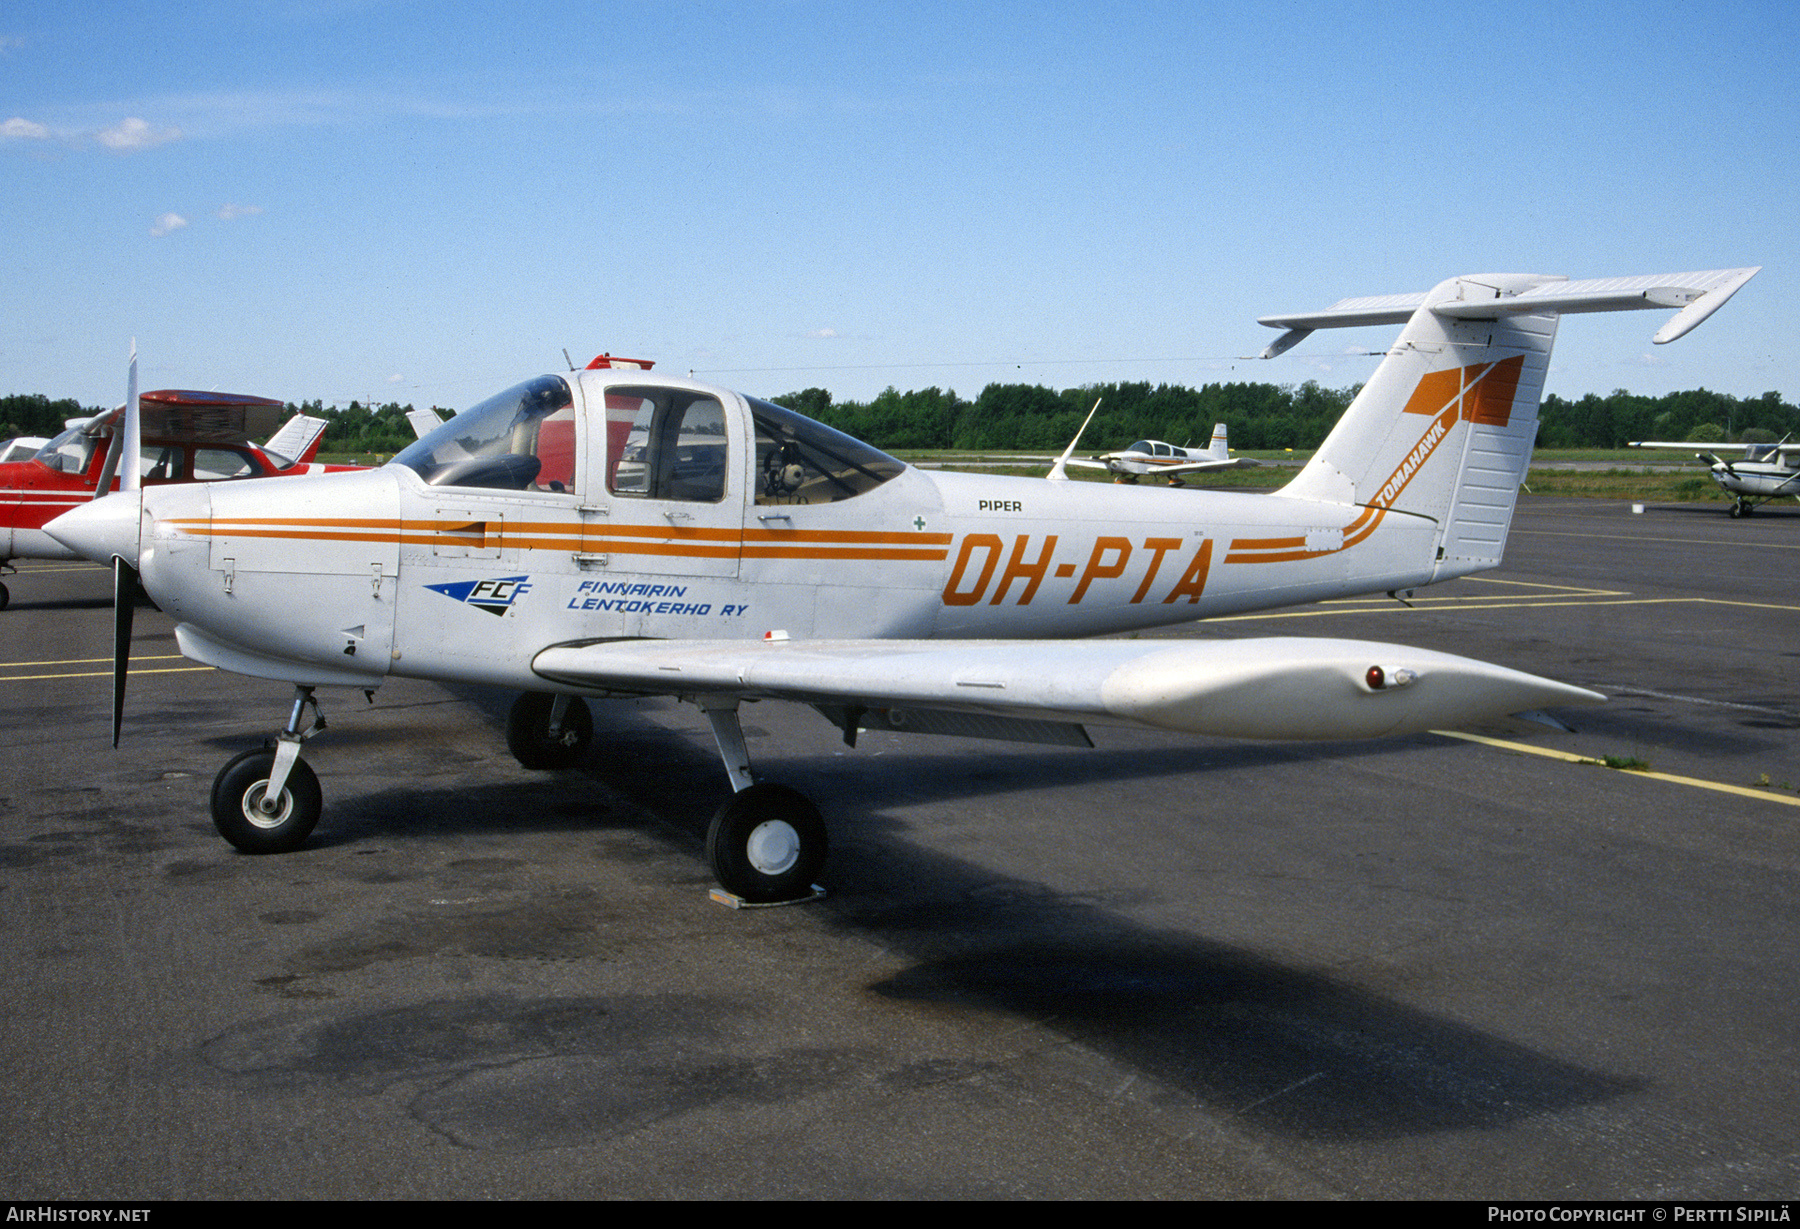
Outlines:
{"label": "white T-tail with orange patch and Tomahawk lettering", "polygon": [[1496,567],[1532,459],[1559,317],[1674,308],[1654,338],[1672,342],[1757,272],[1588,281],[1480,274],[1422,295],[1345,299],[1318,313],[1264,317],[1262,324],[1285,329],[1264,358],[1314,329],[1406,326],[1325,444],[1278,495],[1359,509],[1346,543],[1375,533],[1386,516],[1433,520],[1435,581]]}

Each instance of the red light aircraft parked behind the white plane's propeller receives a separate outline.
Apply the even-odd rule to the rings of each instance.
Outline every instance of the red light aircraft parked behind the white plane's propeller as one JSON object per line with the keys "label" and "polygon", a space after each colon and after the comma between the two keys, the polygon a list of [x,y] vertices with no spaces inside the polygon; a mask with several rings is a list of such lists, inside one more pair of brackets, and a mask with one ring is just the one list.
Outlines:
{"label": "red light aircraft parked behind the white plane's propeller", "polygon": [[[295,414],[263,446],[281,421],[281,401],[238,392],[166,389],[139,398],[144,423],[139,477],[146,484],[211,482],[326,473],[353,466],[313,464],[326,419]],[[121,425],[126,407],[68,419],[56,439],[32,455],[0,462],[0,570],[13,560],[81,558],[43,527],[95,491],[117,489]],[[103,446],[106,444],[106,446]],[[11,594],[0,585],[0,610]]]}

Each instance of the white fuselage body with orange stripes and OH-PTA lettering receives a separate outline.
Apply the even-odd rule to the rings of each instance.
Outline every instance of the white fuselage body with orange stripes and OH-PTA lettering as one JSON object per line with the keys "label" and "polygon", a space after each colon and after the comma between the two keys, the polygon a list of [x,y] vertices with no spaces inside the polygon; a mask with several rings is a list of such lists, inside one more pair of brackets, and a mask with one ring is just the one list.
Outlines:
{"label": "white fuselage body with orange stripes and OH-PTA lettering", "polygon": [[[148,491],[142,583],[184,651],[245,673],[531,687],[533,657],[571,641],[1085,637],[1438,572],[1431,518],[1273,495],[905,468],[837,502],[761,502],[731,408],[716,500],[610,493],[598,457],[556,491],[400,464]],[[603,446],[590,434],[578,448]]]}

